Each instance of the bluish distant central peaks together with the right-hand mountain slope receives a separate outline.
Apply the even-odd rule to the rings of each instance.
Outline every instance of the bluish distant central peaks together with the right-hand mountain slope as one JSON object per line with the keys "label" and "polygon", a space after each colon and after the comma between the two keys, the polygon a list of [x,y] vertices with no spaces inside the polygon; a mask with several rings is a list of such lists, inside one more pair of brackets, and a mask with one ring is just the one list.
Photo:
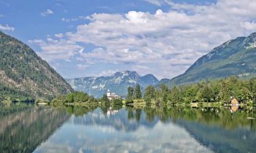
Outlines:
{"label": "bluish distant central peaks together with the right-hand mountain slope", "polygon": [[117,72],[107,77],[87,77],[68,79],[74,90],[88,92],[95,97],[101,97],[107,89],[125,96],[128,86],[141,84],[143,88],[149,85],[156,87],[166,84],[169,87],[182,84],[193,84],[201,80],[214,80],[235,75],[238,78],[256,76],[256,33],[248,37],[237,37],[214,48],[208,54],[199,58],[185,73],[169,80],[158,81],[154,75],[140,77],[137,72]]}

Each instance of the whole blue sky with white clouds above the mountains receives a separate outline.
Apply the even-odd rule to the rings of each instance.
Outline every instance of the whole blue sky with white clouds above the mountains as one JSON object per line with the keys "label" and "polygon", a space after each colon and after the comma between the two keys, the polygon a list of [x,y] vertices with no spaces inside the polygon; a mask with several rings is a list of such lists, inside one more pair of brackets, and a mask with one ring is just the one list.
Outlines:
{"label": "whole blue sky with white clouds above the mountains", "polygon": [[130,70],[161,79],[256,32],[255,12],[256,0],[0,0],[0,31],[63,78]]}

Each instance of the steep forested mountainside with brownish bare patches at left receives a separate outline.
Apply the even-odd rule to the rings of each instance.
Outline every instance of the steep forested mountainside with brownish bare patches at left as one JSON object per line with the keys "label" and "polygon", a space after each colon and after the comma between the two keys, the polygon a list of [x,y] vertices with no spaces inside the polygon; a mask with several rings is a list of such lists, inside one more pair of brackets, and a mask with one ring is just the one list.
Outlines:
{"label": "steep forested mountainside with brownish bare patches at left", "polygon": [[0,97],[46,97],[71,86],[26,44],[0,31]]}

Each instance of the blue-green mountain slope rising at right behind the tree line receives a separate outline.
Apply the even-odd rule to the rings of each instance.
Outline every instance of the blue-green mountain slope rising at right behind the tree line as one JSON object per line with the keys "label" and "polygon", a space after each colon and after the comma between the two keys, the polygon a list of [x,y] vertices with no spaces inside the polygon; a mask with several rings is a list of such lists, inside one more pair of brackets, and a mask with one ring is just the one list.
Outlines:
{"label": "blue-green mountain slope rising at right behind the tree line", "polygon": [[252,33],[248,37],[238,37],[214,48],[199,58],[184,74],[165,84],[168,86],[190,84],[231,75],[252,78],[256,75],[255,61],[256,33]]}

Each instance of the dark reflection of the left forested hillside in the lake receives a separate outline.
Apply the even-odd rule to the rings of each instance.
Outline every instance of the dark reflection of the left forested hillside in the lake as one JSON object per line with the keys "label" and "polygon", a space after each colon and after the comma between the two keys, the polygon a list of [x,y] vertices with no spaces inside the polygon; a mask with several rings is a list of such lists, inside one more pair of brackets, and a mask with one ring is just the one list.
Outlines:
{"label": "dark reflection of the left forested hillside in the lake", "polygon": [[67,119],[53,108],[0,105],[0,152],[33,152]]}

